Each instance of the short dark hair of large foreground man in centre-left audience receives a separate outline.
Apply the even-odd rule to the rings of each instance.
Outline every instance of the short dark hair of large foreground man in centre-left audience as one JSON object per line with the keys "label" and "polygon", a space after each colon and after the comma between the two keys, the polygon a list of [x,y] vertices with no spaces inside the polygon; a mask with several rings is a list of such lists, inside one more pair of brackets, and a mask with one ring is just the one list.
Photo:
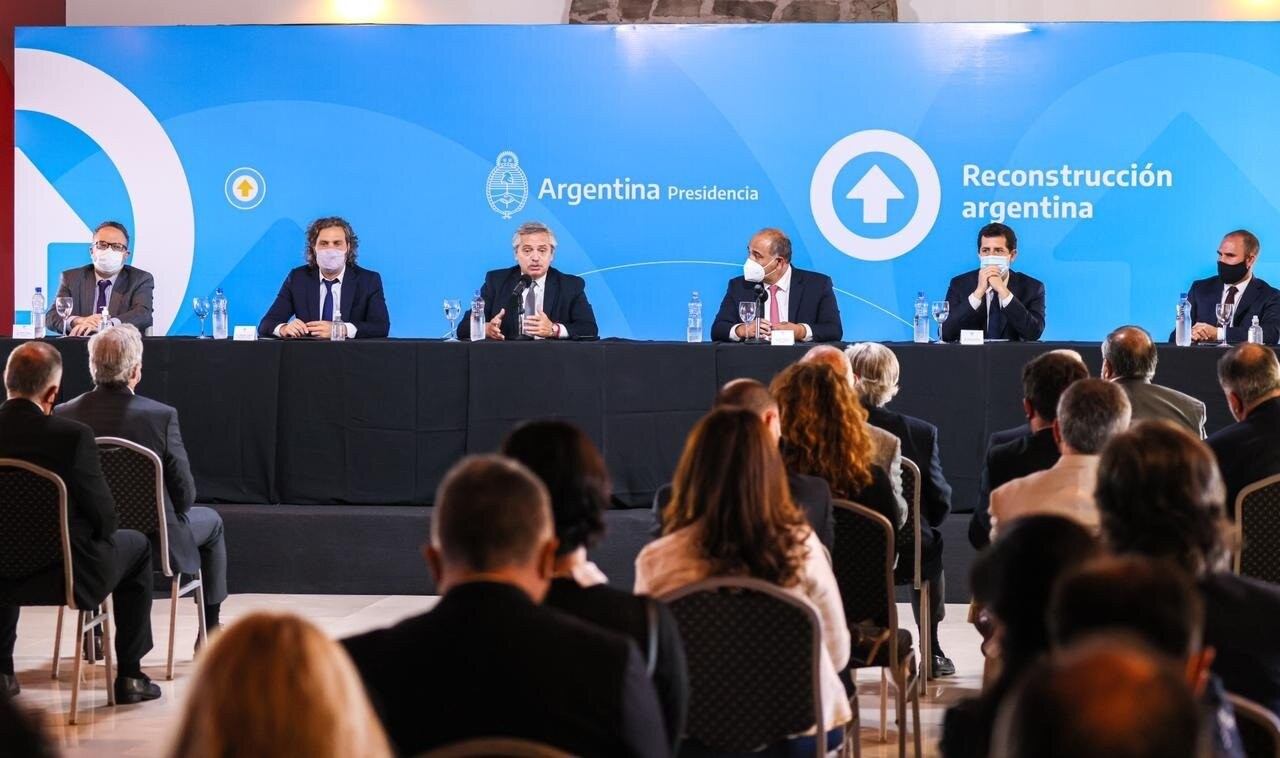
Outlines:
{"label": "short dark hair of large foreground man in centre-left audience", "polygon": [[526,566],[550,536],[547,488],[511,458],[462,458],[435,490],[431,544],[445,563],[471,571]]}

